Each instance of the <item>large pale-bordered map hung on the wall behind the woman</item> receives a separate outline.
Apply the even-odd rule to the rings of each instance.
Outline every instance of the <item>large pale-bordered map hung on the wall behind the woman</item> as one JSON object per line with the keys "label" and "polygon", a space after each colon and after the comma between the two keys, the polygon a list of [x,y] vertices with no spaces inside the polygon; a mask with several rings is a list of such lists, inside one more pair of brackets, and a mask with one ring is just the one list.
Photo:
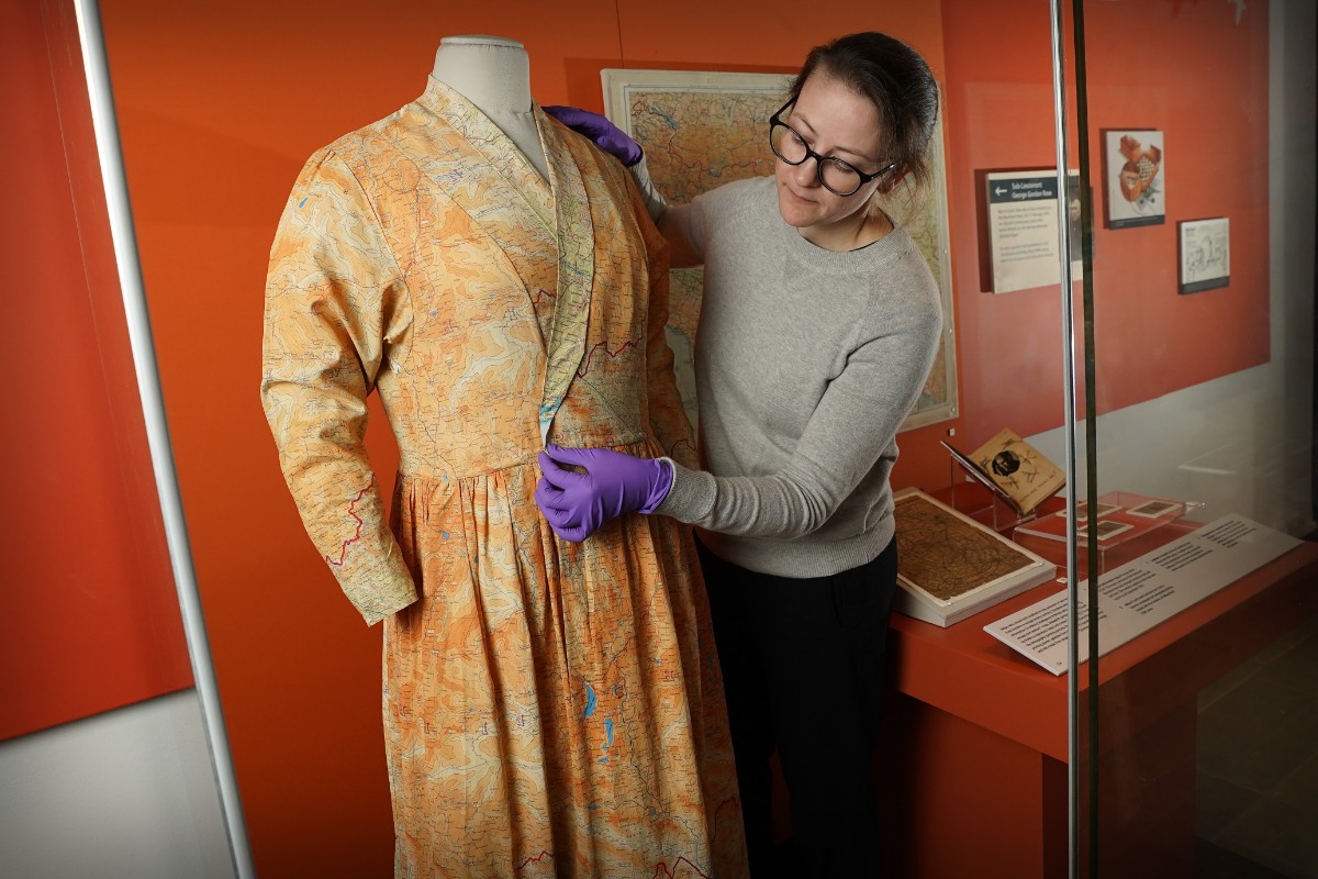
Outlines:
{"label": "large pale-bordered map hung on the wall behind the woman", "polygon": [[[680,70],[600,71],[605,115],[646,152],[655,188],[673,204],[747,177],[774,173],[768,117],[787,100],[787,74],[725,74]],[[904,225],[924,253],[942,297],[942,340],[933,370],[902,430],[957,415],[957,368],[953,344],[952,264],[948,246],[946,167],[942,125],[933,134],[934,181],[913,216],[903,210],[898,187],[884,208]],[[671,274],[668,344],[677,387],[696,424],[695,341],[700,318],[700,269]]]}

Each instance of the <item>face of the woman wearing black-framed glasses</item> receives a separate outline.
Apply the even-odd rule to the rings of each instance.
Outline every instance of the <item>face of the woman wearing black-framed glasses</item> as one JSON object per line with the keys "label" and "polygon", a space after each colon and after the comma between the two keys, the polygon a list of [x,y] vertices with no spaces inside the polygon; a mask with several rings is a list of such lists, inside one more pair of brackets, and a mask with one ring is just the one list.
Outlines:
{"label": "face of the woman wearing black-framed glasses", "polygon": [[[836,157],[865,174],[887,162],[879,156],[879,111],[869,99],[826,72],[816,72],[801,87],[791,115],[783,119],[820,156]],[[778,210],[788,225],[808,240],[833,239],[865,223],[866,204],[883,178],[865,183],[853,195],[836,195],[818,179],[817,162],[774,163]]]}

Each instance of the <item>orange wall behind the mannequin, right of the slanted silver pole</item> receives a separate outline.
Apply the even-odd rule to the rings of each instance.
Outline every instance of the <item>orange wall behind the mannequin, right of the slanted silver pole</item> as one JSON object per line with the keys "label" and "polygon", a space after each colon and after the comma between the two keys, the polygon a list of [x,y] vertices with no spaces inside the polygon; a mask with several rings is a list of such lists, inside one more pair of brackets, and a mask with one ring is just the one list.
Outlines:
{"label": "orange wall behind the mannequin, right of the slanted silver pole", "polygon": [[[310,154],[415,99],[442,37],[496,33],[564,103],[613,5],[104,3],[142,274],[249,841],[262,876],[385,875],[393,825],[380,629],[341,596],[283,485],[258,399],[266,264]],[[387,497],[397,451],[369,447]]]}

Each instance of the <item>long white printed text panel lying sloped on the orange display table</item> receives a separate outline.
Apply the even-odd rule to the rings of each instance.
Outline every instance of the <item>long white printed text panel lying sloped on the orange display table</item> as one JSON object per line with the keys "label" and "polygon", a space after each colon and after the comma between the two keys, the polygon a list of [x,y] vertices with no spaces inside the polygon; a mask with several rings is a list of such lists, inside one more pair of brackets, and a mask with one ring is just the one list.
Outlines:
{"label": "long white printed text panel lying sloped on the orange display table", "polygon": [[[1098,652],[1102,656],[1190,605],[1235,582],[1300,540],[1242,515],[1226,515],[1098,579]],[[1081,582],[1083,586],[1083,581]],[[1089,629],[1079,602],[1077,627]],[[1066,593],[1044,598],[985,631],[1054,675],[1066,672]],[[1089,639],[1079,642],[1089,659]]]}

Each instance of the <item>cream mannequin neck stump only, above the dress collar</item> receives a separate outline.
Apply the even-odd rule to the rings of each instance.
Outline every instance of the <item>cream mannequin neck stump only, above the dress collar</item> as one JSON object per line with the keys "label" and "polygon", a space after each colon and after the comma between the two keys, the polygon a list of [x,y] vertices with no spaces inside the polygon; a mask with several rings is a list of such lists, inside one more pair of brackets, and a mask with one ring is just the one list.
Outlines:
{"label": "cream mannequin neck stump only, above the dress collar", "polygon": [[490,119],[531,112],[531,65],[515,40],[444,37],[434,75]]}

